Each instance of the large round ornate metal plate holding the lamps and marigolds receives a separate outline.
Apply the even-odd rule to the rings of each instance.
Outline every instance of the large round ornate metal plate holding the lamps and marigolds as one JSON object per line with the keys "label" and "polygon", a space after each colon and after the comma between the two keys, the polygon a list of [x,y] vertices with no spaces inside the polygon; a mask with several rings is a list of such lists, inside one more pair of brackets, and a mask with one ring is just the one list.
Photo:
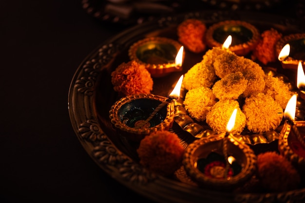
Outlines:
{"label": "large round ornate metal plate holding the lamps and marigolds", "polygon": [[[297,21],[285,17],[274,17],[250,12],[214,12],[202,11],[179,16],[161,18],[117,34],[99,45],[76,69],[72,79],[68,107],[72,126],[84,149],[96,164],[122,185],[133,189],[156,202],[201,203],[204,202],[303,202],[305,188],[283,193],[226,193],[203,189],[188,181],[179,181],[176,177],[163,177],[144,169],[138,162],[136,149],[138,143],[127,140],[112,126],[109,110],[119,96],[113,90],[111,72],[122,62],[128,62],[128,49],[143,38],[164,36],[177,39],[176,27],[186,18],[200,18],[207,26],[227,20],[245,20],[257,26],[261,31],[274,27],[285,34],[304,32]],[[196,62],[201,54],[186,52],[183,70],[173,72],[166,78],[154,79],[152,94],[167,96],[172,85]],[[175,123],[174,123],[175,124]],[[178,131],[184,141],[191,139]],[[188,134],[188,133],[187,133]],[[189,140],[190,141],[190,140]],[[277,145],[264,146],[276,148]],[[102,198],[102,197],[101,197]]]}

